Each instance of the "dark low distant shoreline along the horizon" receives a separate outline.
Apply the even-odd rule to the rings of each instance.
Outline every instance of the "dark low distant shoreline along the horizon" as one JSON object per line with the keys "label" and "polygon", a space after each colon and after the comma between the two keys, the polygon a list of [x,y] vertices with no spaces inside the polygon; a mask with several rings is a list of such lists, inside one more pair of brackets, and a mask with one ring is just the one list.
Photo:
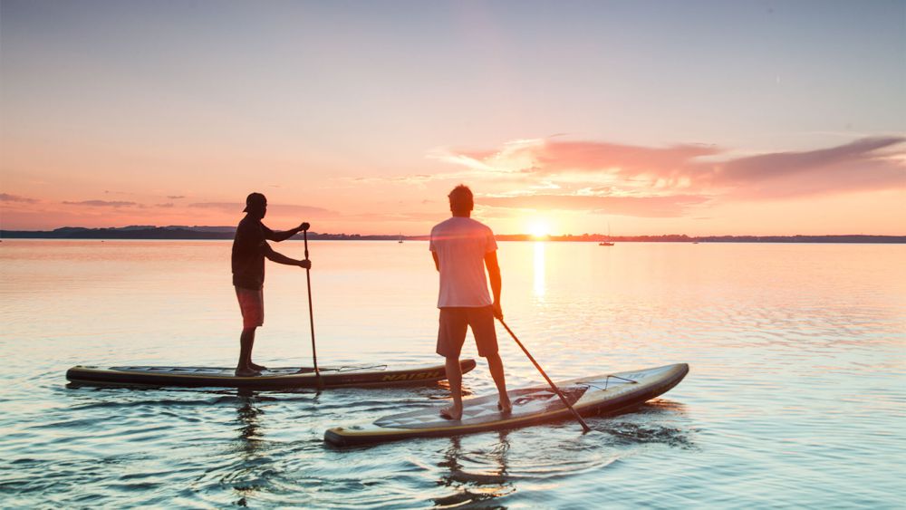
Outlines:
{"label": "dark low distant shoreline along the horizon", "polygon": [[[41,230],[0,230],[0,239],[232,239],[232,226],[124,226],[110,228],[83,228],[64,226],[50,231]],[[293,239],[302,239],[301,235]],[[429,236],[392,236],[360,234],[327,234],[309,232],[313,240],[333,241],[425,241]],[[906,244],[906,236],[604,236],[583,234],[581,236],[545,236],[538,238],[528,234],[496,236],[498,241],[552,241],[578,243],[861,243],[861,244]]]}

